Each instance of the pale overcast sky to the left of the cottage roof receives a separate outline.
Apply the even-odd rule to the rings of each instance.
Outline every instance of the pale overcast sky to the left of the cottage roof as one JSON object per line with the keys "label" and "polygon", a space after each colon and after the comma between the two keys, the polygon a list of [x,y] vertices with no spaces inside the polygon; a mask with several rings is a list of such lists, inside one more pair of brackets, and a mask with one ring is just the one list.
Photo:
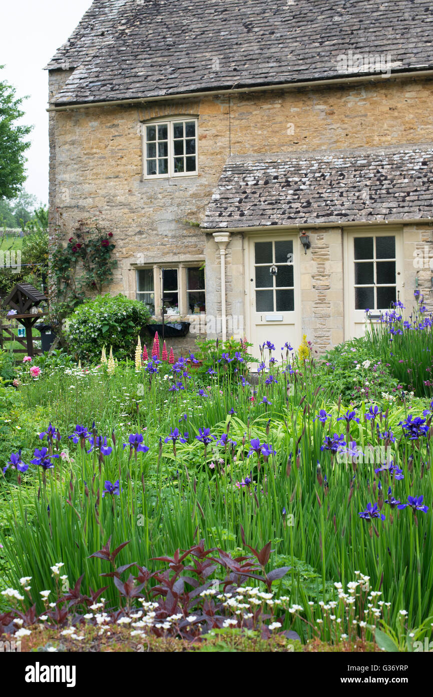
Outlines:
{"label": "pale overcast sky to the left of the cottage roof", "polygon": [[29,95],[22,123],[33,125],[24,188],[48,203],[48,74],[43,70],[92,0],[0,0],[0,79]]}

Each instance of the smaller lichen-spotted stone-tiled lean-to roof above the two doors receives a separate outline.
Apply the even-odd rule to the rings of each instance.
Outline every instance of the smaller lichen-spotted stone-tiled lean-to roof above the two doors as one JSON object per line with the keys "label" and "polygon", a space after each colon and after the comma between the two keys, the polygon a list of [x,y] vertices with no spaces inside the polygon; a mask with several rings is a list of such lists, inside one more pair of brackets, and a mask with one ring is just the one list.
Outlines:
{"label": "smaller lichen-spotted stone-tiled lean-to roof above the two doors", "polygon": [[233,156],[202,227],[418,220],[433,217],[433,144]]}

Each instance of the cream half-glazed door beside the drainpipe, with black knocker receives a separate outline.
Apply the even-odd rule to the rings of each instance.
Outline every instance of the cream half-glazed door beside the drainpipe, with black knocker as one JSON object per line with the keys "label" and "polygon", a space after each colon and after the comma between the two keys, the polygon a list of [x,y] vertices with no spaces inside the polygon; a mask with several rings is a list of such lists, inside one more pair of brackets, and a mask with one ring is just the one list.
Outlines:
{"label": "cream half-glazed door beside the drainpipe, with black knocker", "polygon": [[248,339],[251,353],[260,358],[260,345],[299,346],[299,244],[290,235],[249,238],[246,254]]}

